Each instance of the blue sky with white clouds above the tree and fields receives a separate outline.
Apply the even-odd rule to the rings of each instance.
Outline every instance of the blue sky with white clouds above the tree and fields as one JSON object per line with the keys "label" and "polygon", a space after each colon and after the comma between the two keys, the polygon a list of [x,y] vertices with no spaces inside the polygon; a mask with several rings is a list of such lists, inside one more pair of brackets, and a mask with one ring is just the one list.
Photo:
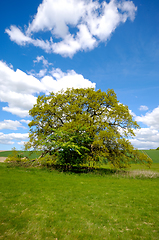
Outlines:
{"label": "blue sky with white clouds above the tree and fields", "polygon": [[39,94],[114,89],[140,125],[135,148],[159,147],[158,0],[0,3],[0,150],[22,150]]}

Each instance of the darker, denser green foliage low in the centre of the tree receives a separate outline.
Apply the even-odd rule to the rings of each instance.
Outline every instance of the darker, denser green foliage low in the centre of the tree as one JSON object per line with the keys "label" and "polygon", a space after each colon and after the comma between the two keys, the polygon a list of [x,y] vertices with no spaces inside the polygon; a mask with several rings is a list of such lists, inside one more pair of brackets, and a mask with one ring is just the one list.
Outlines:
{"label": "darker, denser green foliage low in the centre of the tree", "polygon": [[41,140],[42,144],[52,148],[50,155],[56,159],[54,163],[79,165],[84,162],[87,152],[89,152],[86,145],[90,143],[85,127],[76,125],[65,130],[65,126],[63,126],[60,130],[52,129],[52,132],[53,134],[43,136]]}

